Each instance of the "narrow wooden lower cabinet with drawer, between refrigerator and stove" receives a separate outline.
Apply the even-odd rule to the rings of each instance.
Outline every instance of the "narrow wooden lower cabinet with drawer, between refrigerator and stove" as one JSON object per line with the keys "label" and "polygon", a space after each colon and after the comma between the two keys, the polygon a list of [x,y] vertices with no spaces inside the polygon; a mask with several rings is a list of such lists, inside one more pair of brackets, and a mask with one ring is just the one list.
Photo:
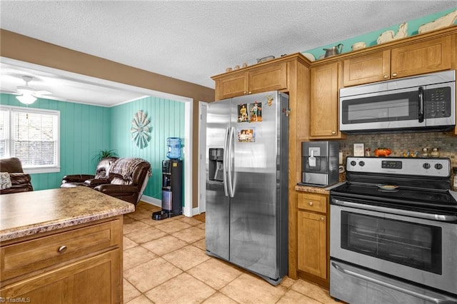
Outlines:
{"label": "narrow wooden lower cabinet with drawer, between refrigerator and stove", "polygon": [[298,193],[298,276],[329,285],[328,195]]}

